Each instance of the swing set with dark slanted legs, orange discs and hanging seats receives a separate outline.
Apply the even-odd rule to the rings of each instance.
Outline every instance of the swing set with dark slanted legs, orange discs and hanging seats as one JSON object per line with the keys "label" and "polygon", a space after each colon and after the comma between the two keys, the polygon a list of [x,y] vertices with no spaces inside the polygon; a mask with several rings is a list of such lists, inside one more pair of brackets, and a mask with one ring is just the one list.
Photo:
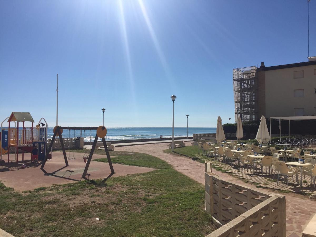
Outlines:
{"label": "swing set with dark slanted legs, orange discs and hanging seats", "polygon": [[[61,127],[61,126],[56,126],[56,127],[54,127],[54,130],[53,130],[54,131],[54,135],[52,137],[51,143],[49,144],[49,148],[47,149],[47,153],[45,155],[44,161],[42,162],[41,169],[44,169],[45,163],[46,163],[48,155],[49,155],[49,151],[52,149],[52,145],[53,145],[53,143],[55,141],[56,136],[59,136],[59,139],[60,139],[60,145],[61,145],[61,148],[62,148],[62,151],[63,151],[66,167],[69,166],[68,165],[68,160],[75,159],[75,150],[74,150],[74,153],[73,153],[73,158],[70,158],[70,148],[69,148],[69,151],[68,151],[68,159],[67,159],[67,155],[66,155],[66,151],[65,151],[65,147],[64,147],[64,141],[63,141],[63,137],[62,137],[63,130],[67,130],[67,129],[69,130],[69,137],[70,137],[70,130],[74,130],[74,132],[76,130],[84,130],[84,132],[86,130],[90,130],[90,139],[91,139],[91,131],[92,130],[96,130],[97,131],[96,135],[95,135],[95,138],[94,138],[94,142],[93,142],[91,150],[90,150],[90,154],[89,155],[84,154],[83,157],[82,157],[84,162],[86,163],[86,166],[85,166],[83,174],[82,174],[82,178],[85,179],[85,177],[87,175],[88,168],[89,168],[90,162],[92,160],[92,155],[94,153],[94,149],[95,149],[96,144],[98,142],[98,138],[102,139],[102,142],[103,142],[103,145],[104,145],[104,150],[105,150],[105,153],[106,153],[106,158],[107,158],[107,161],[108,161],[110,169],[111,169],[111,174],[114,173],[114,168],[113,168],[113,165],[112,165],[112,161],[111,161],[110,154],[109,154],[109,151],[107,149],[106,141],[105,141],[105,138],[104,138],[106,136],[106,133],[107,133],[106,127],[104,127],[104,126],[99,126],[99,127]],[[90,143],[90,146],[91,146],[91,143]],[[75,149],[75,146],[74,146],[74,149]]]}

